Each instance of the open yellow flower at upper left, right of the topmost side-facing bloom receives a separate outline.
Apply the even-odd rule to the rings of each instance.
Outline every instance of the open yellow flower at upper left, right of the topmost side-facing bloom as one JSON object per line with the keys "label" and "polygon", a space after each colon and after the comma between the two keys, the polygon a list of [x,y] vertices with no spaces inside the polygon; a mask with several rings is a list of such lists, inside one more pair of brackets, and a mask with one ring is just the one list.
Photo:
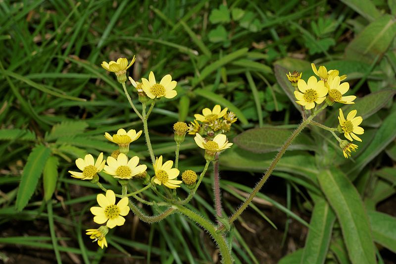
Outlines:
{"label": "open yellow flower at upper left, right of the topmost side-facing bloom", "polygon": [[167,99],[174,98],[177,95],[175,89],[177,82],[172,81],[172,76],[170,74],[166,74],[162,77],[159,83],[156,83],[155,76],[152,71],[148,75],[148,80],[146,78],[142,78],[142,89],[145,91],[147,96],[151,99],[165,97]]}

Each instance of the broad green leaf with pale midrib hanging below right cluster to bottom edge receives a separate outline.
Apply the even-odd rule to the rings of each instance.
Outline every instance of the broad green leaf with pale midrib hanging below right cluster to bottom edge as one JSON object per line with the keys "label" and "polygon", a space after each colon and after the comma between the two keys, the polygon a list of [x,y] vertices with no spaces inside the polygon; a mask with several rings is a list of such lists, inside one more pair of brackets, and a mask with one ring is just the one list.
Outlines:
{"label": "broad green leaf with pale midrib hanging below right cluster to bottom edge", "polygon": [[353,184],[337,168],[320,171],[317,177],[323,193],[336,212],[351,262],[376,263],[370,223]]}

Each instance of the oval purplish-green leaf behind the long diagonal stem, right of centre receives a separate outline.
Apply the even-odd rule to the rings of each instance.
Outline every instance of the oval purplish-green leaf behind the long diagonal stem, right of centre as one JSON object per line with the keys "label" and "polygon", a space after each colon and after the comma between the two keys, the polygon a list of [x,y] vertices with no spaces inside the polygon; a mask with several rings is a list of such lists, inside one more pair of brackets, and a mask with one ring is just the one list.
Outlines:
{"label": "oval purplish-green leaf behind the long diagonal stem, right of centre", "polygon": [[[278,151],[293,133],[293,129],[262,127],[246,130],[234,138],[241,149],[254,153]],[[300,134],[288,150],[314,150],[314,142],[306,134]]]}

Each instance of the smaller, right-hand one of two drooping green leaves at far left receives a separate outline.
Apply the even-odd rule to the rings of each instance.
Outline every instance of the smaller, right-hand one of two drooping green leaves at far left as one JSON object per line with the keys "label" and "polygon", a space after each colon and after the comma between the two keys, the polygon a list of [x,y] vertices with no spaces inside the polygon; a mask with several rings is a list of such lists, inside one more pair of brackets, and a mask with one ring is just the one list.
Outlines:
{"label": "smaller, right-hand one of two drooping green leaves at far left", "polygon": [[43,171],[43,185],[44,185],[44,200],[47,202],[51,199],[55,191],[56,181],[58,180],[58,165],[59,160],[57,157],[50,156],[47,159]]}

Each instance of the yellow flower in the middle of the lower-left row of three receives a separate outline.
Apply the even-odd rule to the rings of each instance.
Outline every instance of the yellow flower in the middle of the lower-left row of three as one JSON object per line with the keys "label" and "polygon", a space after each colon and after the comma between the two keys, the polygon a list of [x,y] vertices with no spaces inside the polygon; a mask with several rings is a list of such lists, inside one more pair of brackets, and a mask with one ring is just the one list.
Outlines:
{"label": "yellow flower in the middle of the lower-left row of three", "polygon": [[146,165],[138,166],[139,157],[135,156],[128,161],[128,157],[123,153],[120,153],[117,159],[107,157],[107,164],[104,166],[104,172],[119,179],[130,179],[147,169]]}

